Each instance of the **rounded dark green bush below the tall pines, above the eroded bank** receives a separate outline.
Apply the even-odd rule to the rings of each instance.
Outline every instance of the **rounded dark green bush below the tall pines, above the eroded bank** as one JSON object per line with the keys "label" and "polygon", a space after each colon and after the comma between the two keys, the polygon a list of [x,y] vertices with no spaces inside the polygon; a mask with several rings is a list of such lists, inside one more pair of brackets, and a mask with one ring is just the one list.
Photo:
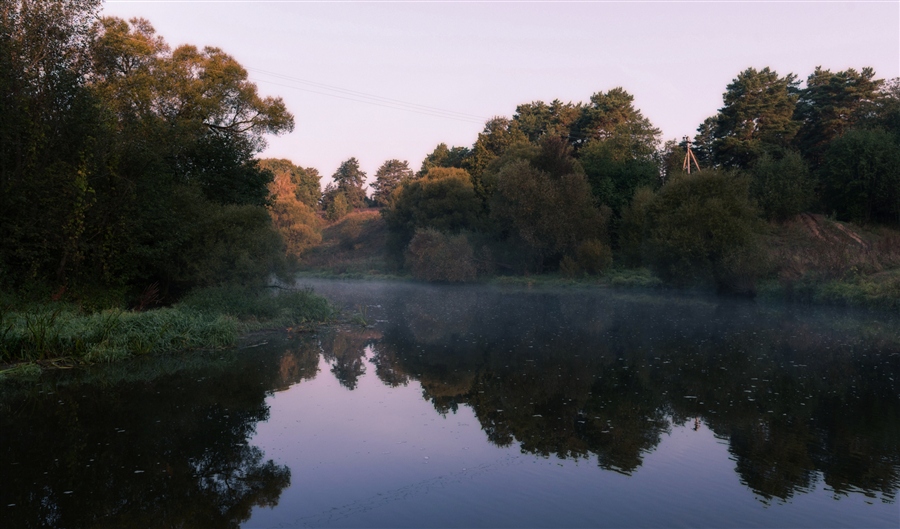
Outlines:
{"label": "rounded dark green bush below the tall pines, above the eroded bank", "polygon": [[786,220],[807,211],[815,201],[815,180],[796,151],[764,153],[750,171],[751,192],[767,219]]}

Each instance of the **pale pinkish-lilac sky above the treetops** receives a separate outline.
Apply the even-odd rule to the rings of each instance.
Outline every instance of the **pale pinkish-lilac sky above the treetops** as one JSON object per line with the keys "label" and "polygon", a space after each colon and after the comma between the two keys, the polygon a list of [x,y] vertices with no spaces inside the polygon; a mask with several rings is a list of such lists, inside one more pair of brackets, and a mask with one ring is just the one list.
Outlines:
{"label": "pale pinkish-lilac sky above the treetops", "polygon": [[107,0],[174,46],[217,46],[294,131],[260,157],[330,181],[359,160],[418,170],[439,143],[470,147],[493,116],[622,87],[663,139],[693,136],[743,70],[816,66],[900,77],[900,2]]}

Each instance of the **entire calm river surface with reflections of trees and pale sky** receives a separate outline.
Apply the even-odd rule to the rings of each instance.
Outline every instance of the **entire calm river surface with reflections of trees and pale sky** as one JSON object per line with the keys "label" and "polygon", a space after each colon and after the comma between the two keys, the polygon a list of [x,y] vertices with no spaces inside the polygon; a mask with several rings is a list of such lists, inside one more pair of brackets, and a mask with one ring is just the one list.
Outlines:
{"label": "entire calm river surface with reflections of trees and pale sky", "polygon": [[0,390],[0,527],[900,526],[900,319],[306,281],[368,327]]}

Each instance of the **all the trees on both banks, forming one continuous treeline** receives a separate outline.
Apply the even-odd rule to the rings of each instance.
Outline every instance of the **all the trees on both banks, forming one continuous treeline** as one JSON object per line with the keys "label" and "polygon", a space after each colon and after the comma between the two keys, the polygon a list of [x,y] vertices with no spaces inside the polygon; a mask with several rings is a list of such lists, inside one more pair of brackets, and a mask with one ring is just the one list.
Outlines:
{"label": "all the trees on both banks, forming one continuous treeline", "polygon": [[[429,280],[601,274],[749,292],[767,223],[801,212],[900,223],[900,82],[871,68],[740,72],[686,141],[622,88],[535,101],[414,172],[350,158],[318,171],[258,161],[293,117],[218,48],[171,48],[99,0],[0,8],[0,286],[98,289],[133,303],[248,284],[322,241],[325,221],[382,208],[393,264]],[[692,148],[701,170],[684,174]]]}

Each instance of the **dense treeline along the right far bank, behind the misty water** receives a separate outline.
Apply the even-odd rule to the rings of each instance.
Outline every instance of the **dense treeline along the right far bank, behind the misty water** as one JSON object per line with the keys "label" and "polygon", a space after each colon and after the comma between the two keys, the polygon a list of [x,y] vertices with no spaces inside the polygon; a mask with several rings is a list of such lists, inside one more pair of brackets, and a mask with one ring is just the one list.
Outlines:
{"label": "dense treeline along the right far bank, behind the misty water", "polygon": [[[752,292],[766,268],[765,221],[814,212],[900,224],[900,82],[817,68],[800,88],[793,74],[749,68],[723,99],[690,145],[660,147],[659,129],[615,88],[587,103],[519,105],[472,147],[438,145],[415,174],[386,162],[375,203],[395,265],[464,281],[598,274],[618,262],[674,284]],[[358,171],[355,159],[345,165]],[[331,214],[345,193],[349,206],[330,218],[361,204],[365,176],[344,169],[323,203]]]}

